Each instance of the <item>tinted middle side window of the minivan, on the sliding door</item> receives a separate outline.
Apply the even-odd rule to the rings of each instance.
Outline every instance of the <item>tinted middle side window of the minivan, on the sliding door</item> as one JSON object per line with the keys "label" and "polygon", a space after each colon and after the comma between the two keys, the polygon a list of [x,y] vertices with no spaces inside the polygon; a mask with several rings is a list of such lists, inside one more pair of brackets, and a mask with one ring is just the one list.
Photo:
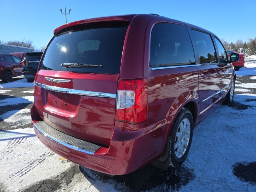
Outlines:
{"label": "tinted middle side window of the minivan, on the sliding door", "polygon": [[216,52],[209,34],[192,30],[196,40],[200,63],[216,63]]}

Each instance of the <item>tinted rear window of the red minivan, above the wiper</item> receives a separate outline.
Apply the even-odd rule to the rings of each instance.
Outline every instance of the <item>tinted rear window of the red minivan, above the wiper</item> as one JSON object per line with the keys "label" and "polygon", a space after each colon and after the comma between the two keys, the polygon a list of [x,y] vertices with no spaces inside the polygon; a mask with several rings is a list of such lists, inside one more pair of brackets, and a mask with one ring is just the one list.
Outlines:
{"label": "tinted rear window of the red minivan, above the wiper", "polygon": [[46,49],[41,69],[120,73],[127,22],[74,26]]}

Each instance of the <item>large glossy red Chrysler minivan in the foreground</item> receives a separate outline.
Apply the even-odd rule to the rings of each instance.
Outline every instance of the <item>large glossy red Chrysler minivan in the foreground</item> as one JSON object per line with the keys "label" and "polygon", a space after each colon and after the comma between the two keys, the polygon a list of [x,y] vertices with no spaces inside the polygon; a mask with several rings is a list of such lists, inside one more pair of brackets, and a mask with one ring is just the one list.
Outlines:
{"label": "large glossy red Chrysler minivan in the foreground", "polygon": [[64,158],[111,175],[180,166],[193,129],[233,100],[219,38],[155,14],[80,20],[54,30],[34,85],[32,125]]}

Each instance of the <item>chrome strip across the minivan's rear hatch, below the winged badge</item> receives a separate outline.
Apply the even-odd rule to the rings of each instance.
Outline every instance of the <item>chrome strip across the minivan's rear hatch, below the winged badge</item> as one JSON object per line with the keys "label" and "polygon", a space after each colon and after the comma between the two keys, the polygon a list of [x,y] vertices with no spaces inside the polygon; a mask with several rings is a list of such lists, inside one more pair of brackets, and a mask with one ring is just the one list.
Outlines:
{"label": "chrome strip across the minivan's rear hatch, below the winged badge", "polygon": [[83,96],[93,96],[93,97],[107,97],[107,98],[116,98],[116,94],[112,93],[103,93],[103,92],[93,92],[93,91],[84,91],[84,90],[76,90],[76,89],[68,89],[56,86],[50,86],[45,84],[40,84],[35,82],[35,85],[50,91],[56,91],[60,93],[68,93],[68,94],[76,94],[76,95],[83,95]]}

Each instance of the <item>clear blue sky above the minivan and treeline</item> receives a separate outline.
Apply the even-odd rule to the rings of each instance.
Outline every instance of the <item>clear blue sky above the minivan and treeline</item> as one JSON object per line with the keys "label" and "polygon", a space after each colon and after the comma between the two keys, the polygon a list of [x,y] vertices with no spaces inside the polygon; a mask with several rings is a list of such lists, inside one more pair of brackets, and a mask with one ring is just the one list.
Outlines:
{"label": "clear blue sky above the minivan and treeline", "polygon": [[[256,37],[255,0],[0,0],[0,40],[31,40],[44,47],[67,22],[120,14],[155,13],[188,22],[227,42]],[[63,11],[62,11],[63,12]]]}

